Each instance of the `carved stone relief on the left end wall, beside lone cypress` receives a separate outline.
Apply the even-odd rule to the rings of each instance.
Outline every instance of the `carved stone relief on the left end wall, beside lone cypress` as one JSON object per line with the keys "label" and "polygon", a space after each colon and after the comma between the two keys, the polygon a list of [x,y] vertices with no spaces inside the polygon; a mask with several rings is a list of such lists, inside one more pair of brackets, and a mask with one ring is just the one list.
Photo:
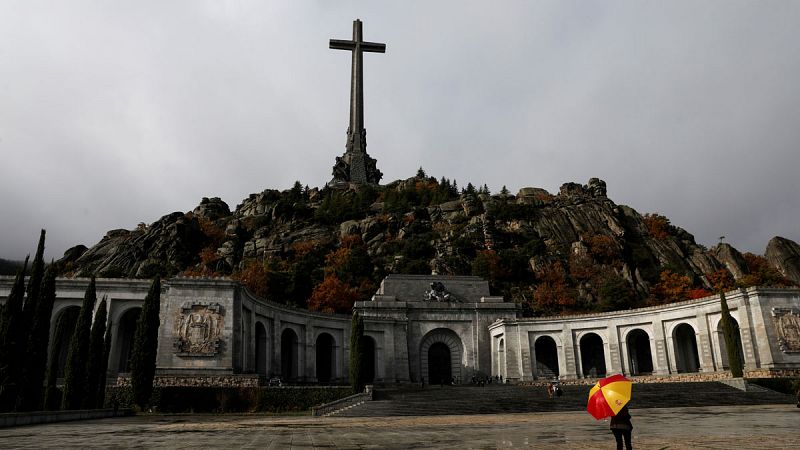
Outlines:
{"label": "carved stone relief on the left end wall, beside lone cypress", "polygon": [[215,302],[185,302],[175,320],[178,356],[214,356],[220,351],[225,310]]}

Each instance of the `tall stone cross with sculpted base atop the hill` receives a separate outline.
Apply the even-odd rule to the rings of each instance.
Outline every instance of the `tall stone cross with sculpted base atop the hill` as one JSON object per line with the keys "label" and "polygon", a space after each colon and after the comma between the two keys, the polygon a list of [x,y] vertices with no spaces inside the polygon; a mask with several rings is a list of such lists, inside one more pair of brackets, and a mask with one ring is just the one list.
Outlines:
{"label": "tall stone cross with sculpted base atop the hill", "polygon": [[[349,165],[347,178],[356,183],[377,183],[371,180],[371,170],[366,166],[369,162],[367,153],[367,131],[364,129],[364,52],[385,53],[386,44],[365,42],[362,38],[361,21],[353,21],[353,40],[330,40],[330,48],[349,50],[352,52],[353,63],[350,72],[350,124],[347,127],[346,159]],[[372,160],[374,161],[374,160]],[[374,165],[374,162],[372,163]],[[372,169],[374,170],[374,168]],[[334,168],[334,177],[336,169]]]}

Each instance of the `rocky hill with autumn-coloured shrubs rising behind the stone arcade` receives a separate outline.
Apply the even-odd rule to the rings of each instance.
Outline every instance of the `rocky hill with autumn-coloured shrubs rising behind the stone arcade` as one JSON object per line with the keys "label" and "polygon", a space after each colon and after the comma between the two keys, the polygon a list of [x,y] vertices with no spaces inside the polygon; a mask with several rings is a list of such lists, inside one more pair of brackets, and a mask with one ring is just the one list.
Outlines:
{"label": "rocky hill with autumn-coloured shrubs rising behind the stone arcade", "polygon": [[800,283],[796,243],[776,237],[766,258],[728,244],[709,250],[663,216],[615,204],[596,178],[557,194],[490,195],[422,172],[385,186],[296,183],[252,194],[234,211],[204,198],[191,212],[109,231],[58,263],[77,276],[232,276],[259,295],[321,310],[368,298],[387,273],[480,275],[528,314],[676,301],[720,283]]}

